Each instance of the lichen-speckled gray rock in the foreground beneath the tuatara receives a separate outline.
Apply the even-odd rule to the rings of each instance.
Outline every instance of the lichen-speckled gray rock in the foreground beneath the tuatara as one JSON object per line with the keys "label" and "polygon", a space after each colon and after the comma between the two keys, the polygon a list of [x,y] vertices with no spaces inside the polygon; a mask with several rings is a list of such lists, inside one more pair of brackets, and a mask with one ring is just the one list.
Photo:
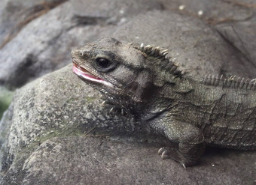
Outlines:
{"label": "lichen-speckled gray rock in the foreground beneath the tuatara", "polygon": [[0,184],[254,182],[255,152],[208,148],[185,170],[157,156],[162,138],[101,102],[71,65],[17,90],[1,123]]}

